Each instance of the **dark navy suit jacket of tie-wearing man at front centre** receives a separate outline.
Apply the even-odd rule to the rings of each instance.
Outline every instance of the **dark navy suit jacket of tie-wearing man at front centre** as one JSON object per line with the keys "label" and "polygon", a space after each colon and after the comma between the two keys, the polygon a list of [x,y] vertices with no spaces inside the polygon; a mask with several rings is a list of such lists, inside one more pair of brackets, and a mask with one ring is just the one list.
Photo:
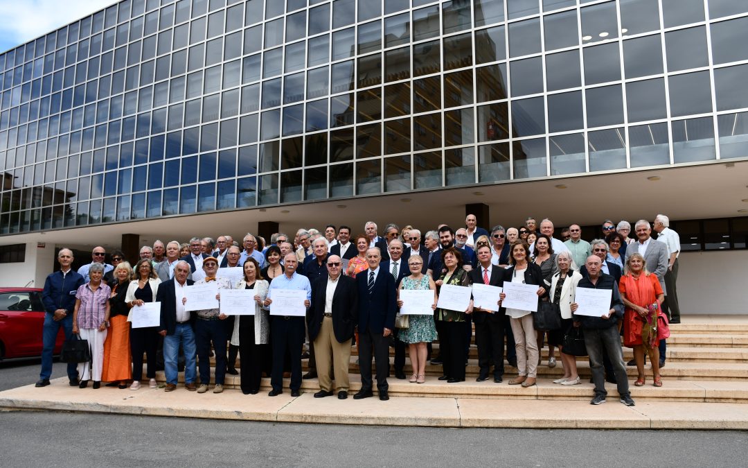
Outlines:
{"label": "dark navy suit jacket of tie-wearing man at front centre", "polygon": [[358,332],[371,329],[382,333],[385,328],[395,329],[395,312],[397,311],[397,294],[395,279],[390,272],[379,267],[372,294],[369,294],[369,272],[366,270],[356,275],[358,282]]}

